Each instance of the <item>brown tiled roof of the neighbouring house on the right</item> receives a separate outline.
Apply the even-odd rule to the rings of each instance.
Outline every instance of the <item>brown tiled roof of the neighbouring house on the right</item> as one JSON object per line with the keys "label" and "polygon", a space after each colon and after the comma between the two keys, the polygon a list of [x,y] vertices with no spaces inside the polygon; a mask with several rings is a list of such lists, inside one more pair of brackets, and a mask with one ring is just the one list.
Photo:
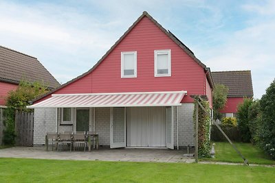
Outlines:
{"label": "brown tiled roof of the neighbouring house on the right", "polygon": [[228,97],[253,97],[251,71],[211,72],[214,84],[228,86]]}

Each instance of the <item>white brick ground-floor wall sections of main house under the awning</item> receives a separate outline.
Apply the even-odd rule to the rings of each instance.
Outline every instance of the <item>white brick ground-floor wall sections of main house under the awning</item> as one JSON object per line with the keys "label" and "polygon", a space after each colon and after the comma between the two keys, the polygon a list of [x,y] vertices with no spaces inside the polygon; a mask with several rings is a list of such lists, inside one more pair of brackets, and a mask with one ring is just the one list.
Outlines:
{"label": "white brick ground-floor wall sections of main house under the awning", "polygon": [[[194,145],[193,103],[179,106],[179,146]],[[93,115],[94,112],[92,112]],[[177,114],[174,108],[174,145],[177,146]],[[91,117],[94,128],[94,117]],[[110,108],[96,108],[96,132],[100,145],[110,145]],[[58,125],[58,132],[73,131],[73,126]],[[92,130],[94,131],[94,129]],[[46,132],[56,132],[56,108],[34,110],[34,145],[45,144]]]}

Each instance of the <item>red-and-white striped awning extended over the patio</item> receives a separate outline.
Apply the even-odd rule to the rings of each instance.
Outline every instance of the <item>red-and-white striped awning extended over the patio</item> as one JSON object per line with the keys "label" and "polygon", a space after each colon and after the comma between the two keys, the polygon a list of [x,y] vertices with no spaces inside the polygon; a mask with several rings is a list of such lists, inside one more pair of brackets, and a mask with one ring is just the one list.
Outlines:
{"label": "red-and-white striped awning extended over the patio", "polygon": [[28,108],[99,108],[181,106],[186,91],[144,93],[87,93],[52,95]]}

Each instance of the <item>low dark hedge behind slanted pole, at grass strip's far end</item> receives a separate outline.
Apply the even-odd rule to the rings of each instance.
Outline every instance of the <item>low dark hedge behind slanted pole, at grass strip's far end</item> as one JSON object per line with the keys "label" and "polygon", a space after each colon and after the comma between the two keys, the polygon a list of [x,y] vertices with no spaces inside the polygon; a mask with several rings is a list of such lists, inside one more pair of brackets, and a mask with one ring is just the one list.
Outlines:
{"label": "low dark hedge behind slanted pole, at grass strip's far end", "polygon": [[[231,141],[241,142],[241,133],[236,126],[230,125],[220,125],[221,130],[225,132],[225,134],[230,138]],[[223,142],[228,141],[225,136],[219,131],[216,125],[212,125],[211,127],[211,141]]]}

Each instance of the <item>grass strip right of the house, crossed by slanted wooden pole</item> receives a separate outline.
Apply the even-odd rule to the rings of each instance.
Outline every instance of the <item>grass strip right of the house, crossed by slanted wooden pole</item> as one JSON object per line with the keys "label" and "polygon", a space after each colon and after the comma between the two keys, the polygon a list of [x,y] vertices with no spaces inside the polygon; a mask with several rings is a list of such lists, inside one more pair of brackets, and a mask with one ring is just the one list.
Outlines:
{"label": "grass strip right of the house, crossed by slanted wooden pole", "polygon": [[[206,158],[203,160],[212,160],[212,161],[220,161],[220,162],[243,162],[243,159],[239,154],[236,153],[235,149],[233,149],[230,143],[215,143],[215,158]],[[265,153],[254,147],[250,143],[234,143],[237,149],[241,151],[241,154],[248,159],[249,163],[253,164],[275,164],[274,160],[270,160],[269,157],[265,155]]]}

